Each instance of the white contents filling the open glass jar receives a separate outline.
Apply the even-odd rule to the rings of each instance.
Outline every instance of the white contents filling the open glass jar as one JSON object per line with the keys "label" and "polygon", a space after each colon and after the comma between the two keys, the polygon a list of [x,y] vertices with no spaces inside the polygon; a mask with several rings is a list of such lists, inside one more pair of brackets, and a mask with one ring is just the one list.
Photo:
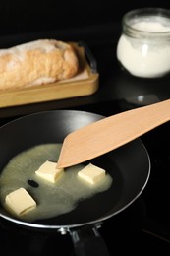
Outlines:
{"label": "white contents filling the open glass jar", "polygon": [[170,20],[140,20],[131,27],[134,36],[123,33],[118,41],[117,58],[122,66],[137,77],[154,78],[169,73]]}

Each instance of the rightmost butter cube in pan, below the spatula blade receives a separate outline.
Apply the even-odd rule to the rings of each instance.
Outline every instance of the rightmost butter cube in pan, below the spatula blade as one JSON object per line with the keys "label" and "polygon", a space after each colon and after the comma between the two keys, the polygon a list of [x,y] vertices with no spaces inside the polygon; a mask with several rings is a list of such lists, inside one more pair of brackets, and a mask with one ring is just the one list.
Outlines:
{"label": "rightmost butter cube in pan, below the spatula blade", "polygon": [[82,170],[78,172],[78,176],[90,184],[95,184],[105,177],[105,170],[89,163]]}

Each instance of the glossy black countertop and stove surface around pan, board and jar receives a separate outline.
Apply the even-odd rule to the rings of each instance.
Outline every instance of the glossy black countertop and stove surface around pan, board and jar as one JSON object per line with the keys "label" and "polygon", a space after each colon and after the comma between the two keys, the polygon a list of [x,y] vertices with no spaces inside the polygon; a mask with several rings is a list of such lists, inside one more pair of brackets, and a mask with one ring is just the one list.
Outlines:
{"label": "glossy black countertop and stove surface around pan, board and jar", "polygon": [[[96,59],[99,72],[99,88],[95,94],[1,108],[0,125],[22,115],[53,109],[80,109],[109,116],[169,98],[170,79],[140,79],[132,77],[121,70],[115,55],[120,32],[119,25],[106,24],[85,27],[81,30],[16,34],[0,38],[0,45],[6,45],[7,47],[40,37],[55,37],[72,41],[85,40]],[[142,142],[151,159],[151,176],[142,193],[142,198],[137,200],[137,203],[133,204],[127,211],[106,222],[101,228],[101,233],[106,239],[111,255],[116,251],[115,248],[120,253],[123,253],[125,246],[127,252],[130,252],[131,255],[143,255],[145,251],[152,252],[155,255],[162,255],[162,250],[165,251],[164,255],[169,255],[169,140],[169,123],[142,136]],[[47,248],[52,246],[50,248],[54,248],[53,241],[56,237],[47,237],[46,235],[39,237],[34,236],[34,234],[25,236],[23,235],[23,230],[13,229],[13,231],[9,231],[8,224],[5,223],[4,227],[3,221],[1,225],[0,232],[3,234],[4,242],[2,243],[4,245],[0,248],[0,251],[2,250],[5,254],[11,253],[8,241],[12,241],[14,236],[17,240],[23,239],[22,248],[15,244],[14,250],[17,253],[27,253],[27,246],[29,250],[32,249],[34,251],[26,255],[42,255],[45,253],[44,246],[47,246]],[[61,246],[67,242],[72,249],[70,237],[68,240],[67,237],[60,239],[62,239]],[[38,240],[39,248],[34,246]],[[113,243],[113,240],[115,243]],[[64,255],[71,254],[66,252]]]}

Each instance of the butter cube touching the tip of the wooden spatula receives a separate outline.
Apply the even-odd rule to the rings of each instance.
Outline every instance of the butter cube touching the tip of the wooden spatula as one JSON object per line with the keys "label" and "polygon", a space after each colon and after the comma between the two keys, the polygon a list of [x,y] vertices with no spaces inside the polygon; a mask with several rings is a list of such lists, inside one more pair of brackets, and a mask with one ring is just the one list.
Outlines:
{"label": "butter cube touching the tip of the wooden spatula", "polygon": [[56,162],[47,160],[35,171],[35,173],[39,177],[55,183],[63,173],[63,169],[58,169]]}

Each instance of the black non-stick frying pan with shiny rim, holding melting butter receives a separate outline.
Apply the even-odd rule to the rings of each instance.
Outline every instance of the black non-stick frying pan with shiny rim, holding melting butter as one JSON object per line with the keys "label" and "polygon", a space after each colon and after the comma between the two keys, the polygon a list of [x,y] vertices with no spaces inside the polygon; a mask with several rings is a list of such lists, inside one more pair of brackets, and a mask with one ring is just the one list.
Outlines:
{"label": "black non-stick frying pan with shiny rim, holding melting butter", "polygon": [[[62,143],[72,131],[104,116],[77,110],[52,110],[20,117],[0,128],[0,172],[17,154],[45,143]],[[114,134],[113,134],[114,136]],[[14,224],[71,234],[76,255],[109,255],[98,227],[128,208],[145,188],[150,159],[140,138],[90,160],[112,176],[111,187],[81,201],[72,212],[33,223],[10,216],[0,206],[0,217]]]}

